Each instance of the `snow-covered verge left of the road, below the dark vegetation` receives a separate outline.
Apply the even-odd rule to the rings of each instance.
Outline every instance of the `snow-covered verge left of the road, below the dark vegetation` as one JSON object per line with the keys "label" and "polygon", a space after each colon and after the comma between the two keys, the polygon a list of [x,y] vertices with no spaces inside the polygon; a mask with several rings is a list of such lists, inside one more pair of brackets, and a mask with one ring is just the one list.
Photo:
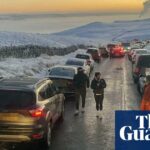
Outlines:
{"label": "snow-covered verge left of the road, below the dark vegetation", "polygon": [[64,64],[68,58],[74,57],[84,50],[77,50],[65,56],[41,55],[38,58],[17,59],[7,58],[0,61],[0,76],[5,78],[16,76],[47,76],[48,68],[56,64]]}

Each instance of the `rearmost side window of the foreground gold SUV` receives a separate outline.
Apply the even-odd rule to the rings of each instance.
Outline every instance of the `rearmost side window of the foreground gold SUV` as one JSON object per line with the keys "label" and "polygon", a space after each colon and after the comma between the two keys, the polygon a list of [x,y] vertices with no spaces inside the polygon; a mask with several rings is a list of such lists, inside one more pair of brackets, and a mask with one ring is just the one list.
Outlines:
{"label": "rearmost side window of the foreground gold SUV", "polygon": [[39,101],[44,101],[44,100],[47,100],[53,96],[54,96],[54,91],[51,88],[50,84],[47,84],[46,86],[44,86],[40,90],[39,95],[38,95],[38,99],[39,99]]}

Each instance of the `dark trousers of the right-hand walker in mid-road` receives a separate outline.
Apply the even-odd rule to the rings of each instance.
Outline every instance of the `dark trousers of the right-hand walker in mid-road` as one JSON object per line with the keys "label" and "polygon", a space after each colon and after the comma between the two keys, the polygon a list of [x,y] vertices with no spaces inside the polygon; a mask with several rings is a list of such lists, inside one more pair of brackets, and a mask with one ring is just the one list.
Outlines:
{"label": "dark trousers of the right-hand walker in mid-road", "polygon": [[104,94],[102,95],[96,95],[94,94],[95,97],[95,102],[96,102],[96,110],[103,110],[103,99],[104,99]]}

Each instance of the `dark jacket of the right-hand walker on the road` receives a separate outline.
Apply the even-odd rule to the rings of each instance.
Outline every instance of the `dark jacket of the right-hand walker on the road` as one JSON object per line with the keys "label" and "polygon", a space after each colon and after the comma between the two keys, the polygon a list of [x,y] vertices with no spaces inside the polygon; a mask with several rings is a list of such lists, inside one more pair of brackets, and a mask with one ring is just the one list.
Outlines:
{"label": "dark jacket of the right-hand walker on the road", "polygon": [[104,94],[104,88],[106,88],[106,86],[104,79],[97,80],[94,78],[91,83],[91,89],[93,89],[94,94]]}

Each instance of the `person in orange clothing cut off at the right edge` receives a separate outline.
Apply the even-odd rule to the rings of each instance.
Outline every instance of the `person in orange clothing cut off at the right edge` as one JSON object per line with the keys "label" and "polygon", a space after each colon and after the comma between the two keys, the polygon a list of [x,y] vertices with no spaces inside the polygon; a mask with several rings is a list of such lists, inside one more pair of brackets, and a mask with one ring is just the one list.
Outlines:
{"label": "person in orange clothing cut off at the right edge", "polygon": [[141,101],[141,110],[150,110],[150,75],[146,77],[144,95]]}

